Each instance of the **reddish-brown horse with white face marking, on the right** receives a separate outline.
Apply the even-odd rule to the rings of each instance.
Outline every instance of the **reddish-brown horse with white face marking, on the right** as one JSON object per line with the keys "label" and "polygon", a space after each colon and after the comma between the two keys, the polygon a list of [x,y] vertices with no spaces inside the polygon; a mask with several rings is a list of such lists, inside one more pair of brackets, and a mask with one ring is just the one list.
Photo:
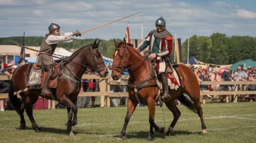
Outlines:
{"label": "reddish-brown horse with white face marking, on the right", "polygon": [[[124,38],[120,43],[116,42],[114,39],[114,44],[116,45],[116,49],[114,50],[113,54],[111,76],[113,80],[119,80],[122,72],[125,70],[129,72],[130,76],[128,80],[129,98],[127,100],[127,113],[125,115],[125,122],[118,139],[123,140],[123,136],[126,134],[127,124],[133,115],[136,106],[140,102],[141,104],[147,105],[149,109],[150,128],[147,140],[152,141],[153,127],[155,128],[155,131],[159,131],[160,133],[164,133],[165,127],[157,126],[154,121],[155,100],[157,98],[159,88],[158,85],[153,84],[155,79],[151,78],[151,80],[149,80],[149,77],[151,76],[150,61],[146,60],[144,56],[137,52],[133,45],[126,43]],[[199,101],[200,89],[196,74],[194,74],[192,69],[186,65],[177,64],[173,65],[173,68],[179,72],[184,86],[181,90],[170,90],[170,100],[164,101],[168,109],[170,109],[170,111],[173,113],[173,121],[172,124],[170,124],[166,135],[173,135],[173,128],[181,115],[181,111],[179,111],[175,104],[175,99],[178,99],[181,103],[183,103],[183,105],[188,107],[188,109],[198,113],[198,116],[201,119],[201,129],[203,130],[203,133],[207,133],[206,126],[203,121],[203,111]],[[144,83],[144,85],[149,86],[139,88],[136,85],[141,85],[140,83]],[[188,99],[185,94],[187,94],[192,101]]]}

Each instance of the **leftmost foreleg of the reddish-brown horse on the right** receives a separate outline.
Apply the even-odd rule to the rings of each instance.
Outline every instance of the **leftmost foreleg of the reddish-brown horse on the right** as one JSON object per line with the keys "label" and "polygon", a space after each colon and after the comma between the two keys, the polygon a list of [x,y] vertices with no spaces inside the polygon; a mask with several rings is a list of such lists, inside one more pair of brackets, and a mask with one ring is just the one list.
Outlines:
{"label": "leftmost foreleg of the reddish-brown horse on the right", "polygon": [[127,113],[125,115],[125,122],[123,124],[123,129],[118,137],[119,140],[123,140],[123,136],[126,134],[128,122],[131,118],[131,115],[133,115],[134,110],[136,109],[136,105],[138,105],[138,102],[136,100],[132,102],[131,98],[129,97],[127,100]]}

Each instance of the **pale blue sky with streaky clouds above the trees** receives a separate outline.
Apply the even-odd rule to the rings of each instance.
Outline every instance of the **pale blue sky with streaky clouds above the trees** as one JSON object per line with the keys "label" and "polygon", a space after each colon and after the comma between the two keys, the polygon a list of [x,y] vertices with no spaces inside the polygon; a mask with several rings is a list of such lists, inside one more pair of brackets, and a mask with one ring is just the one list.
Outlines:
{"label": "pale blue sky with streaky clouds above the trees", "polygon": [[[145,38],[162,16],[166,29],[181,41],[189,36],[252,36],[256,33],[256,2],[251,0],[1,0],[0,37],[45,36],[51,23],[60,32],[83,32],[110,21],[135,16],[87,32],[79,39],[122,39],[129,21],[131,39]],[[142,23],[144,25],[142,32]],[[142,34],[143,33],[143,34]]]}

